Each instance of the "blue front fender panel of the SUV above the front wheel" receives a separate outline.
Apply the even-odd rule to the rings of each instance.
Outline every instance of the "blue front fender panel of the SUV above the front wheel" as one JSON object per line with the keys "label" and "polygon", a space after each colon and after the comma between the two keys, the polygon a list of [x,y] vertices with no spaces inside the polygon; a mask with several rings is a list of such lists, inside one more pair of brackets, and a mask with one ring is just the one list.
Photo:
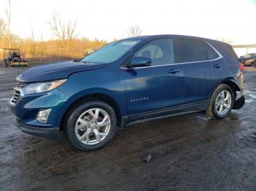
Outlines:
{"label": "blue front fender panel of the SUV above the front wheel", "polygon": [[[67,82],[57,87],[69,95],[63,104],[62,113],[80,98],[90,94],[102,94],[112,98],[118,104],[121,116],[127,115],[126,85],[124,72],[118,70],[94,70],[72,74]],[[61,118],[63,117],[61,116]]]}

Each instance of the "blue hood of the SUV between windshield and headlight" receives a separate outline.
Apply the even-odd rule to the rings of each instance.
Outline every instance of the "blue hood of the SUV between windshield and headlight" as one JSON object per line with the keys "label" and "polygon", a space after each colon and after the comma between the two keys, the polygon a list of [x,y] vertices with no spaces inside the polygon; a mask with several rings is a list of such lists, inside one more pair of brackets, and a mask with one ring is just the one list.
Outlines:
{"label": "blue hood of the SUV between windshield and headlight", "polygon": [[51,63],[28,69],[20,74],[16,80],[20,82],[42,82],[64,79],[75,72],[100,69],[104,66],[105,63],[77,63],[73,61]]}

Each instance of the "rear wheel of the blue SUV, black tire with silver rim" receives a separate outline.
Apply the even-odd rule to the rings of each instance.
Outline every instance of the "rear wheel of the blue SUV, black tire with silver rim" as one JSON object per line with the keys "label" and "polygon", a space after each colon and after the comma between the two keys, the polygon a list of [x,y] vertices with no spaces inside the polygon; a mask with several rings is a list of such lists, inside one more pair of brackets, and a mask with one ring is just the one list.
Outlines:
{"label": "rear wheel of the blue SUV, black tire with silver rim", "polygon": [[206,114],[212,119],[224,119],[227,117],[234,104],[234,93],[229,85],[220,84],[211,95]]}

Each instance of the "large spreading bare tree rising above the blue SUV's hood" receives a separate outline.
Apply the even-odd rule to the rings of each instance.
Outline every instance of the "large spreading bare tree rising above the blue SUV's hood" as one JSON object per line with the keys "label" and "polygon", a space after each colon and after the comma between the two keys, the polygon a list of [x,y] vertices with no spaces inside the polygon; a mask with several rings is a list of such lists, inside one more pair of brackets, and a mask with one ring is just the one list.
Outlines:
{"label": "large spreading bare tree rising above the blue SUV's hood", "polygon": [[48,23],[53,31],[53,36],[60,39],[61,42],[63,42],[64,47],[68,48],[70,57],[72,40],[78,36],[78,34],[75,33],[78,21],[69,20],[68,22],[63,22],[59,17],[59,14],[53,11],[52,20]]}

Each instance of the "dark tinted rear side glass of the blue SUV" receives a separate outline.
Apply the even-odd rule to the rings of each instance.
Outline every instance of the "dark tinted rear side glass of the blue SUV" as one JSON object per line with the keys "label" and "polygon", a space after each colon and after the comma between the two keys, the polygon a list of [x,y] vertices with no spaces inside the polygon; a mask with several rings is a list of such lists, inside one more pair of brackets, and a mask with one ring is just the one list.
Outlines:
{"label": "dark tinted rear side glass of the blue SUV", "polygon": [[218,56],[217,52],[206,42],[193,39],[181,39],[181,63],[208,61],[218,58]]}

